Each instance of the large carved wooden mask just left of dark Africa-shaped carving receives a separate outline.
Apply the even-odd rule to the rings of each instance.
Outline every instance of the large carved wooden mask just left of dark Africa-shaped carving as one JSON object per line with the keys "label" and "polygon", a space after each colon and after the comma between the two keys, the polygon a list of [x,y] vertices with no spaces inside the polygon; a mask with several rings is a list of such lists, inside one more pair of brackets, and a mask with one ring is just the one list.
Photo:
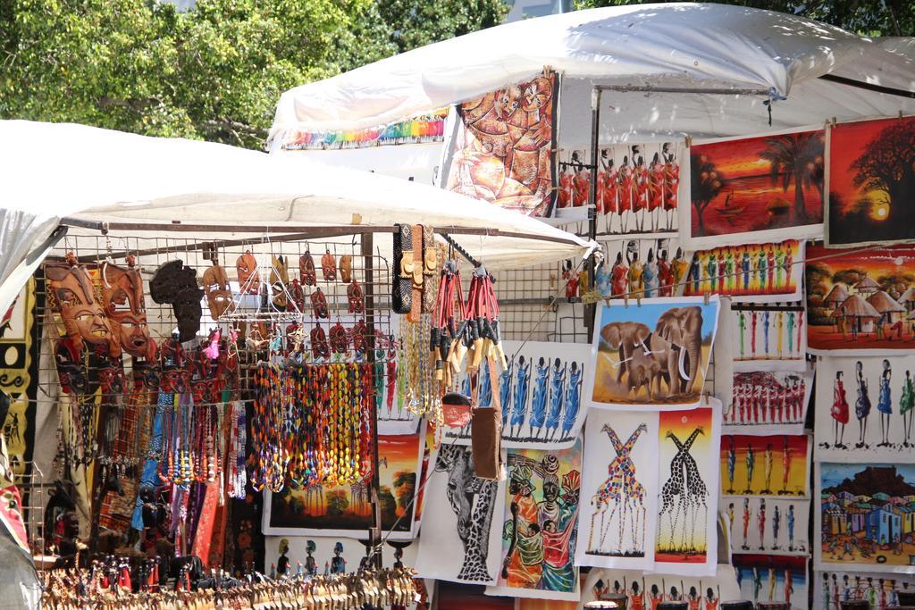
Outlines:
{"label": "large carved wooden mask just left of dark Africa-shaped carving", "polygon": [[110,262],[102,264],[102,305],[121,348],[135,358],[156,359],[156,342],[146,325],[143,278],[134,268],[133,257],[128,268]]}

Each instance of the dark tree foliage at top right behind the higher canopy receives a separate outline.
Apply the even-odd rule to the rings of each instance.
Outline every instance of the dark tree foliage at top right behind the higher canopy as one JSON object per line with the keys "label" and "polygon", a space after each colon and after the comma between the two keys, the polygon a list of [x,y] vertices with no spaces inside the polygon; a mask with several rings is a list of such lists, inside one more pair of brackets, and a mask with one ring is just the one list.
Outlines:
{"label": "dark tree foliage at top right behind the higher canopy", "polygon": [[[644,5],[674,0],[576,0],[576,8]],[[864,36],[915,35],[911,0],[721,0],[721,4],[766,8],[808,17]]]}

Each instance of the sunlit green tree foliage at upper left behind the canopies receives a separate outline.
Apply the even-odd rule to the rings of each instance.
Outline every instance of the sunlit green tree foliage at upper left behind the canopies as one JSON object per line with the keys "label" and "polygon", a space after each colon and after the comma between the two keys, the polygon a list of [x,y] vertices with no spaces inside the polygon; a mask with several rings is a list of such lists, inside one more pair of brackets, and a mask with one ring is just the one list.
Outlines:
{"label": "sunlit green tree foliage at upper left behind the canopies", "polygon": [[0,118],[260,147],[280,93],[501,22],[501,0],[0,0]]}

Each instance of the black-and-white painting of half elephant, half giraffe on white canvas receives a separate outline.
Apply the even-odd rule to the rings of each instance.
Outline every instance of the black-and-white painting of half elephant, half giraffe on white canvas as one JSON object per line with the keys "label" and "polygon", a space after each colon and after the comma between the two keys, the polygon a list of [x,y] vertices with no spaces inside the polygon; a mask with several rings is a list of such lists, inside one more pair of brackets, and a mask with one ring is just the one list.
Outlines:
{"label": "black-and-white painting of half elephant, half giraffe on white canvas", "polygon": [[[501,572],[505,482],[474,474],[470,447],[441,444],[431,458],[416,570],[422,578],[495,584]],[[447,549],[447,552],[443,552]]]}

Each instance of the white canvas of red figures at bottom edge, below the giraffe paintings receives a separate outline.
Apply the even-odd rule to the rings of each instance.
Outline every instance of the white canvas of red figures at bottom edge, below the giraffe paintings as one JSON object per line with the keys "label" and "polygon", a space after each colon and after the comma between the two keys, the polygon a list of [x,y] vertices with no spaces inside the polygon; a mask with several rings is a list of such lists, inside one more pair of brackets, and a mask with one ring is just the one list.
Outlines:
{"label": "white canvas of red figures at bottom edge, below the giraffe paintings", "polygon": [[734,568],[718,564],[708,576],[641,573],[635,570],[591,570],[581,602],[626,598],[629,608],[656,608],[662,602],[687,602],[694,610],[716,610],[722,600],[739,599]]}

